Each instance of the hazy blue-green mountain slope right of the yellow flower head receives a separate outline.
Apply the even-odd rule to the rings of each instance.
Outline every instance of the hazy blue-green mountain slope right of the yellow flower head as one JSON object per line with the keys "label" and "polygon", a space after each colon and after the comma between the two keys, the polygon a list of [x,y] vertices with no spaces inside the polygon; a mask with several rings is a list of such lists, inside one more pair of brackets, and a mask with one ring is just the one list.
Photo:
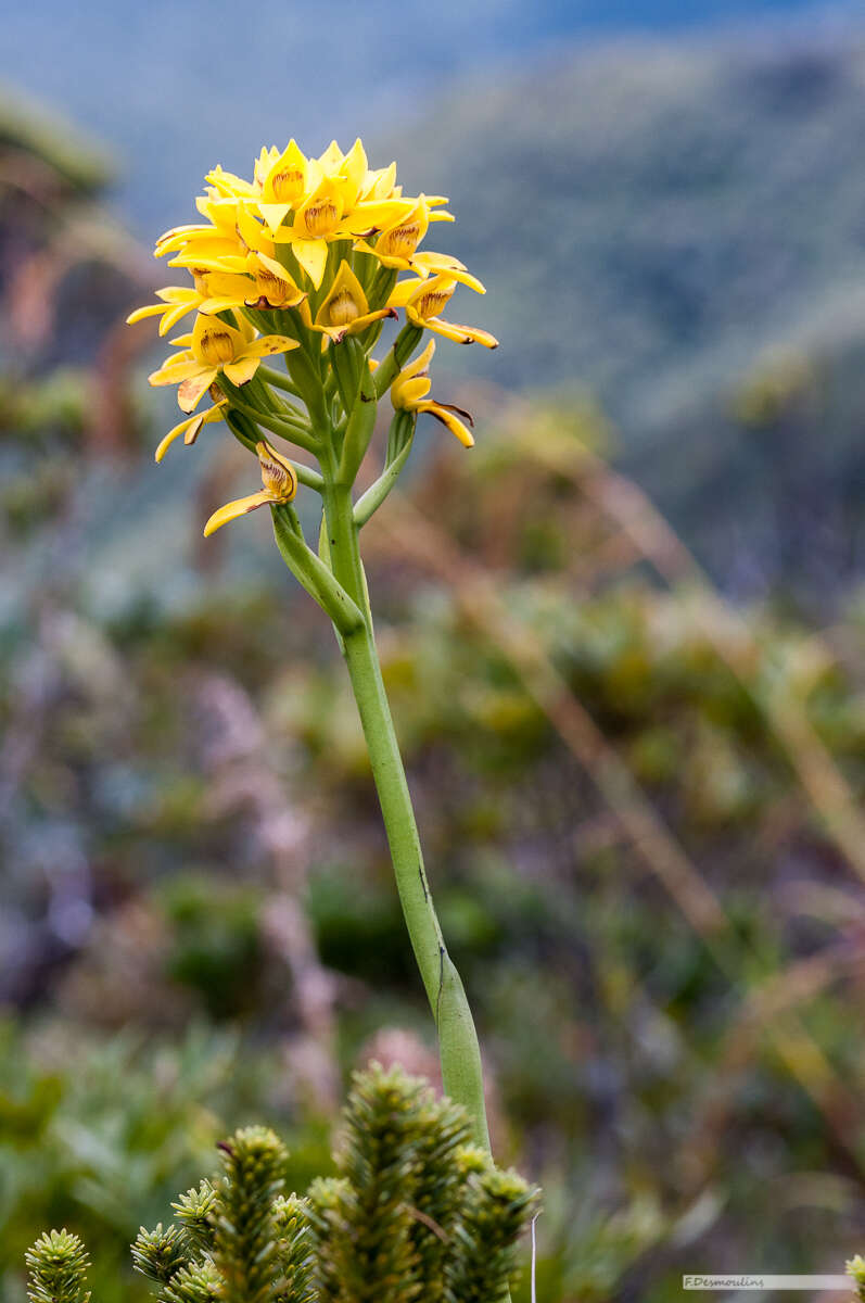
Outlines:
{"label": "hazy blue-green mountain slope right of the yellow flower head", "polygon": [[502,352],[459,366],[590,390],[735,595],[829,595],[865,537],[864,134],[865,29],[778,23],[560,53],[383,152],[491,291],[453,315]]}

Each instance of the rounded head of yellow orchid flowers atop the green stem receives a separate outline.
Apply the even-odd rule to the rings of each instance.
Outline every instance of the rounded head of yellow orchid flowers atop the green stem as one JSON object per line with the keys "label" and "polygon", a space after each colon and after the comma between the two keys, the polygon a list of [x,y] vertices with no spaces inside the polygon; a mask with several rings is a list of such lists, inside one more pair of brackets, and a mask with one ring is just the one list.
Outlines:
{"label": "rounded head of yellow orchid flowers atop the green stem", "polygon": [[[262,150],[251,180],[216,167],[206,182],[195,201],[203,220],[167,231],[155,250],[191,284],[158,291],[158,302],[128,318],[156,317],[165,335],[195,314],[150,377],[151,384],[177,386],[185,417],[156,460],[214,421],[225,421],[259,457],[263,490],[220,508],[205,533],[264,503],[291,503],[298,480],[319,491],[335,476],[353,482],[386,392],[395,409],[391,474],[373,498],[367,491],[373,509],[405,461],[419,413],[472,446],[468,413],[429,397],[434,340],[406,365],[425,331],[496,347],[486,331],[442,317],[459,285],[485,292],[457,258],[418,248],[432,223],[453,220],[446,198],[404,195],[396,164],[371,169],[360,139],[347,154],[332,142],[320,158],[291,141],[281,151]],[[371,353],[383,323],[400,314],[403,328],[379,364]],[[264,364],[277,354],[284,371]],[[212,407],[199,409],[205,394]],[[272,435],[311,452],[322,473],[289,461]]]}

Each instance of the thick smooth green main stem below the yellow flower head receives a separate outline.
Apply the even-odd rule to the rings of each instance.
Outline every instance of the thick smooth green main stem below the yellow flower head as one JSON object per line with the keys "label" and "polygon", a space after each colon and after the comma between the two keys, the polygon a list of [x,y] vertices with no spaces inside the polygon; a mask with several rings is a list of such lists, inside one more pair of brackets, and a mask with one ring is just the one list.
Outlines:
{"label": "thick smooth green main stem below the yellow flower head", "polygon": [[421,839],[382,680],[373,616],[358,549],[349,486],[327,473],[324,520],[333,576],[363,619],[340,629],[340,644],[357,701],[363,736],[396,874],[396,886],[427,999],[439,1033],[444,1091],[464,1105],[477,1144],[490,1148],[483,1101],[481,1050],[460,975],[447,952],[423,868]]}

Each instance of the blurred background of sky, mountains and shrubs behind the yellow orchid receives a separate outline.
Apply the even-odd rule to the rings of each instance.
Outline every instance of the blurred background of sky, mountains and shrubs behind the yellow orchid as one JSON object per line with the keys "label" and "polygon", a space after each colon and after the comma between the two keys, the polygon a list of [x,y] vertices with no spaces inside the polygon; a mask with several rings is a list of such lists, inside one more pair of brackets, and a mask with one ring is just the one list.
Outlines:
{"label": "blurred background of sky, mountains and shrubs behind the yellow orchid", "polygon": [[[865,17],[793,0],[35,0],[0,44],[0,1272],[138,1225],[348,1072],[435,1074],[332,636],[121,324],[214,163],[361,133],[448,194],[422,429],[365,533],[543,1303],[865,1244]],[[470,297],[466,294],[466,298]],[[473,314],[473,315],[469,315]],[[457,314],[459,315],[459,314]],[[434,425],[434,422],[431,422]],[[307,516],[311,524],[311,515]],[[526,1282],[518,1298],[528,1296]]]}

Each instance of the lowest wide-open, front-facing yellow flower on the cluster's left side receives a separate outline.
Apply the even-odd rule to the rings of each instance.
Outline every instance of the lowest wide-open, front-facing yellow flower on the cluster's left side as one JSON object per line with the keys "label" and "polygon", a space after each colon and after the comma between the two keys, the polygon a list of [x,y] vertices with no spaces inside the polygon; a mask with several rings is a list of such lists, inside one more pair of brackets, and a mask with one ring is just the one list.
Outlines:
{"label": "lowest wide-open, front-facing yellow flower on the cluster's left side", "polygon": [[244,321],[236,330],[227,322],[199,313],[191,335],[172,340],[173,344],[185,347],[185,352],[163,362],[149,377],[150,383],[178,384],[177,405],[181,412],[194,412],[202,394],[220,371],[224,371],[232,384],[246,384],[263,357],[300,348],[296,339],[285,335],[262,335],[254,339],[253,334],[253,327]]}

